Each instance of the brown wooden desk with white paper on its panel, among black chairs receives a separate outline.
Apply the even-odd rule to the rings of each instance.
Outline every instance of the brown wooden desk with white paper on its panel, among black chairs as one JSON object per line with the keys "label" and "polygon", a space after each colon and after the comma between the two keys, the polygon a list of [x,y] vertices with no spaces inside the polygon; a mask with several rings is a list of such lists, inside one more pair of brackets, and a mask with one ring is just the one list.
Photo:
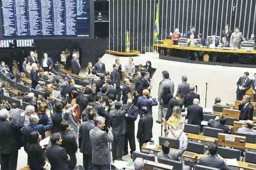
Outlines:
{"label": "brown wooden desk with white paper on its panel, among black chairs", "polygon": [[245,149],[245,136],[238,136],[234,134],[218,133],[218,145],[228,146],[237,149]]}

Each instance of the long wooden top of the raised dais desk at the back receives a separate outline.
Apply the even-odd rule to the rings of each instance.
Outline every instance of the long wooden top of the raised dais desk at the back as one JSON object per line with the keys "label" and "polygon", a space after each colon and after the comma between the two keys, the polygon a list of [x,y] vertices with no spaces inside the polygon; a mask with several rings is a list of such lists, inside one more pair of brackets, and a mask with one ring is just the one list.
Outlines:
{"label": "long wooden top of the raised dais desk at the back", "polygon": [[191,50],[191,51],[207,51],[207,52],[239,53],[239,54],[256,54],[256,50],[247,50],[247,49],[200,48],[200,47],[166,45],[166,44],[154,44],[154,46],[161,47],[161,48],[183,49],[183,50]]}

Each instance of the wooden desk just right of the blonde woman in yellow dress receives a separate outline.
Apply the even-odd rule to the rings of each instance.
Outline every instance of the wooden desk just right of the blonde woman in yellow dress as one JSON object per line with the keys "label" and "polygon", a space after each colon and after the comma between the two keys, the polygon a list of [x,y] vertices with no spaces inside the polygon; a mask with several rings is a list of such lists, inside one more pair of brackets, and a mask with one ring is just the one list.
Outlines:
{"label": "wooden desk just right of the blonde woman in yellow dress", "polygon": [[206,148],[208,147],[208,144],[215,143],[215,141],[217,140],[217,138],[212,138],[212,137],[208,137],[200,134],[192,134],[192,133],[188,133],[187,138],[188,138],[188,141],[204,144]]}

